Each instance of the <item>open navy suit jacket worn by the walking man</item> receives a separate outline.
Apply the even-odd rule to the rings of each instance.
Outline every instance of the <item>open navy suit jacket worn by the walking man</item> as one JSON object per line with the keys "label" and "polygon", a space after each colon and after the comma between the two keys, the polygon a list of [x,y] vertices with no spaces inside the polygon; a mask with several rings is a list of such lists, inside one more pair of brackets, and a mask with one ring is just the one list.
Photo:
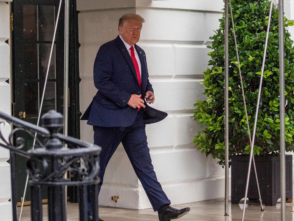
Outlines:
{"label": "open navy suit jacket worn by the walking man", "polygon": [[[101,127],[128,127],[133,124],[138,108],[132,108],[127,103],[132,94],[142,95],[153,92],[148,80],[148,70],[145,52],[134,45],[141,62],[141,89],[136,70],[126,46],[118,36],[103,44],[94,62],[94,84],[98,92],[81,117],[88,120],[87,124]],[[144,102],[143,118],[146,124],[156,123],[166,118],[167,113],[151,108]]]}

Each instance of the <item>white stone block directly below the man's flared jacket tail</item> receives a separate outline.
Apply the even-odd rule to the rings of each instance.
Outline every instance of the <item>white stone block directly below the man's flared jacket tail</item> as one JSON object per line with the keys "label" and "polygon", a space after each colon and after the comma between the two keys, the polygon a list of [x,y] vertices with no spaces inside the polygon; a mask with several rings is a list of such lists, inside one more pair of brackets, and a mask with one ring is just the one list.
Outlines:
{"label": "white stone block directly below the man's flared jacket tail", "polygon": [[[151,105],[152,106],[152,105]],[[146,125],[148,147],[158,149],[174,145],[174,116],[168,115],[163,121]]]}

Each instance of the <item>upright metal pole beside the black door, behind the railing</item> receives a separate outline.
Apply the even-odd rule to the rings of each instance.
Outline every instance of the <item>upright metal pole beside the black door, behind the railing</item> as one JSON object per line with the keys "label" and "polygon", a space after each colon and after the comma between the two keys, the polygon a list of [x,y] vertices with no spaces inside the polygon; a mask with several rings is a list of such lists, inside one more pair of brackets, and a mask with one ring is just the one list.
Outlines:
{"label": "upright metal pole beside the black door, behind the railing", "polygon": [[[69,107],[69,0],[65,0],[65,13],[64,13],[64,136],[68,135],[68,107]],[[65,146],[67,146],[65,144]],[[65,162],[65,161],[64,161]],[[64,179],[67,179],[67,173],[64,173]],[[65,187],[65,210],[67,202],[67,187]],[[65,213],[66,215],[66,213]]]}

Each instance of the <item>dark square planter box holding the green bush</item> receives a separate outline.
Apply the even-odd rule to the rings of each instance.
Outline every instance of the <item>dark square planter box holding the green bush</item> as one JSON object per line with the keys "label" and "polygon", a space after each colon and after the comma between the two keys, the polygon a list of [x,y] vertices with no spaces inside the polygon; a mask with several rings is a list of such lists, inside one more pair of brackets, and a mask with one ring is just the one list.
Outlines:
{"label": "dark square planter box holding the green bush", "polygon": [[[255,165],[260,188],[260,195],[266,206],[275,206],[280,194],[280,157],[255,156]],[[238,204],[245,196],[249,156],[231,157],[232,203]],[[286,155],[286,197],[292,199],[292,155]],[[254,167],[252,163],[248,198],[259,199]]]}

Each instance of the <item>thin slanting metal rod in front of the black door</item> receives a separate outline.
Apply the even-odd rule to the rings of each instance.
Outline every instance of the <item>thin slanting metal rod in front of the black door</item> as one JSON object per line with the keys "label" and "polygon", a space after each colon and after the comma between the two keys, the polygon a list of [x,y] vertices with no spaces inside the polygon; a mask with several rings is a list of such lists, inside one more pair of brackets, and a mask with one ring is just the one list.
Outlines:
{"label": "thin slanting metal rod in front of the black door", "polygon": [[[42,94],[42,99],[41,99],[41,104],[40,104],[40,109],[39,109],[39,116],[38,116],[37,126],[39,126],[40,118],[41,118],[41,112],[42,112],[42,108],[43,108],[43,102],[44,102],[44,97],[45,97],[47,79],[48,79],[48,75],[49,75],[49,67],[50,67],[50,63],[51,63],[51,57],[52,57],[52,53],[53,53],[54,41],[55,41],[55,37],[56,37],[57,25],[58,25],[58,20],[59,20],[59,15],[60,15],[61,3],[62,3],[62,0],[60,0],[60,2],[59,2],[59,8],[58,8],[58,13],[57,13],[57,18],[56,18],[56,24],[55,24],[54,34],[53,34],[53,40],[52,40],[52,44],[51,44],[51,51],[50,51],[48,67],[47,67],[47,72],[46,72],[46,77],[45,77],[45,83],[44,83],[44,88],[43,88],[43,94]],[[35,148],[36,138],[37,138],[37,133],[35,133],[32,149]],[[29,174],[26,175],[26,184],[25,184],[25,187],[24,187],[23,200],[22,200],[22,203],[21,203],[21,209],[20,209],[20,213],[19,213],[19,221],[21,220],[22,209],[24,207],[24,199],[26,197],[26,189],[27,189],[27,186],[28,186],[28,181],[29,181]]]}

